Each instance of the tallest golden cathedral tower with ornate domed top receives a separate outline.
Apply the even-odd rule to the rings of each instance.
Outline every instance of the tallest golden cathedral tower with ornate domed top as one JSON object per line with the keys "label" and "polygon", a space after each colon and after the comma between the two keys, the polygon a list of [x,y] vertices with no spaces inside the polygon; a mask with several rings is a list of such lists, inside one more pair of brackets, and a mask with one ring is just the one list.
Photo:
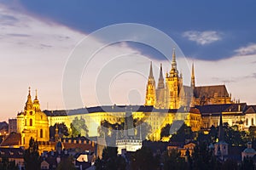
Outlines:
{"label": "tallest golden cathedral tower with ornate domed top", "polygon": [[175,49],[172,53],[172,69],[166,73],[166,106],[169,109],[179,108],[179,77],[177,71],[176,54]]}

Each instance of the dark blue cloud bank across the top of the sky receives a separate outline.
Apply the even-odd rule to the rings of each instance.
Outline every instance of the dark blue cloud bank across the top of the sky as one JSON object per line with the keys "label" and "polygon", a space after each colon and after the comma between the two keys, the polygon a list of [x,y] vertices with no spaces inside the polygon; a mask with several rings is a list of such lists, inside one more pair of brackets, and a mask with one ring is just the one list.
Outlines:
{"label": "dark blue cloud bank across the top of the sky", "polygon": [[[230,57],[236,48],[256,41],[254,1],[24,0],[21,5],[32,14],[85,33],[125,22],[154,26],[175,39],[185,55],[195,59]],[[203,31],[212,31],[212,36],[218,38],[206,43],[188,41],[193,35],[185,36],[185,31],[197,37]]]}

